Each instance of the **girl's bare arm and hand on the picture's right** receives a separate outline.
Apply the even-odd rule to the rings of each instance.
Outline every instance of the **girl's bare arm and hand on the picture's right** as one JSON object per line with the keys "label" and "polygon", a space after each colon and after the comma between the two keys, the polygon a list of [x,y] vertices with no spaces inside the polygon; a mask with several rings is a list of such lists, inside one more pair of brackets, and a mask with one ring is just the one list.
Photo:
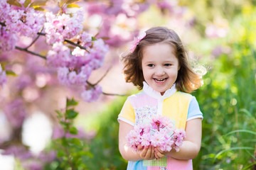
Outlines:
{"label": "girl's bare arm and hand on the picture's right", "polygon": [[186,123],[186,139],[183,141],[179,152],[175,149],[171,149],[171,152],[162,152],[161,149],[155,148],[155,157],[159,159],[164,155],[169,155],[176,159],[194,159],[198,155],[201,148],[201,136],[202,136],[202,120],[196,118],[188,120]]}

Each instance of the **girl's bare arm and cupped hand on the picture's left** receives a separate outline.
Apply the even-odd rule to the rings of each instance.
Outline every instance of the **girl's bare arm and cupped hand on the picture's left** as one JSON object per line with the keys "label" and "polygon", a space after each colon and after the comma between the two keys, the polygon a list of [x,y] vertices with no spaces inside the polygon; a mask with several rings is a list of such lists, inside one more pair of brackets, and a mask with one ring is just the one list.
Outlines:
{"label": "girl's bare arm and cupped hand on the picture's left", "polygon": [[154,159],[154,147],[138,147],[138,152],[133,152],[132,148],[127,145],[126,136],[134,127],[119,120],[119,152],[127,161],[139,161],[142,159]]}

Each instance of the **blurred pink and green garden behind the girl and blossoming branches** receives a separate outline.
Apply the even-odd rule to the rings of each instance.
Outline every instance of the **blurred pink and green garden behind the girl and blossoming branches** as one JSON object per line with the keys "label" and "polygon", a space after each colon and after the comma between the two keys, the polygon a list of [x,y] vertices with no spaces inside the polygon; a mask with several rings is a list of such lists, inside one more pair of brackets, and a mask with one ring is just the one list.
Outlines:
{"label": "blurred pink and green garden behind the girl and blossoming branches", "polygon": [[[110,46],[103,66],[89,79],[94,83],[102,77],[99,84],[105,94],[86,103],[75,89],[58,84],[50,68],[42,72],[46,63],[40,58],[15,50],[1,53],[1,60],[13,57],[11,67],[18,76],[9,77],[8,85],[0,89],[0,169],[126,169],[127,161],[118,150],[117,116],[137,89],[125,83],[119,56],[129,50],[139,31],[153,26],[174,29],[191,64],[206,72],[203,86],[193,92],[203,113],[201,152],[193,159],[193,168],[256,169],[256,1],[84,0],[78,4],[85,8],[85,29]],[[23,38],[19,43],[30,41]],[[44,41],[33,49],[46,49]],[[63,129],[55,110],[65,109],[67,97],[78,101],[79,114],[73,120],[78,133],[69,136],[77,140],[65,152],[65,145],[56,140]],[[82,152],[77,152],[79,148]],[[65,160],[72,160],[73,167],[63,165]]]}

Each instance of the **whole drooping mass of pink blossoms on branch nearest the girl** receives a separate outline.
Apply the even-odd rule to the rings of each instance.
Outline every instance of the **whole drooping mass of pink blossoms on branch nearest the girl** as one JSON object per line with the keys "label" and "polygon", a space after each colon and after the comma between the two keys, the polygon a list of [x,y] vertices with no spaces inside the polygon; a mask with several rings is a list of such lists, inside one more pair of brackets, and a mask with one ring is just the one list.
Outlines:
{"label": "whole drooping mass of pink blossoms on branch nearest the girl", "polygon": [[[98,69],[104,62],[104,57],[109,50],[102,39],[92,37],[82,30],[83,10],[78,8],[74,13],[62,13],[55,16],[46,13],[46,42],[53,45],[46,57],[47,63],[58,69],[58,80],[67,86],[82,86],[81,97],[84,101],[95,101],[102,94],[100,86],[90,86],[87,79],[92,70]],[[63,44],[70,40],[80,47],[70,50]],[[81,48],[82,47],[82,48]]]}

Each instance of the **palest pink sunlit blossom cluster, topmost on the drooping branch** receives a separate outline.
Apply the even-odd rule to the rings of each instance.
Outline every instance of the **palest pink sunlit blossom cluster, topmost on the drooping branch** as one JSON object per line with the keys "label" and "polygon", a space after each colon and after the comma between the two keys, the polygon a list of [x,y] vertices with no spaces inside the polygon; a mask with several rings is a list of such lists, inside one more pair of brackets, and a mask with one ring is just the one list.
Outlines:
{"label": "palest pink sunlit blossom cluster, topmost on the drooping branch", "polygon": [[82,21],[84,20],[84,11],[78,8],[75,13],[62,13],[54,15],[52,12],[46,13],[46,42],[53,44],[55,42],[63,42],[71,39],[82,31]]}

